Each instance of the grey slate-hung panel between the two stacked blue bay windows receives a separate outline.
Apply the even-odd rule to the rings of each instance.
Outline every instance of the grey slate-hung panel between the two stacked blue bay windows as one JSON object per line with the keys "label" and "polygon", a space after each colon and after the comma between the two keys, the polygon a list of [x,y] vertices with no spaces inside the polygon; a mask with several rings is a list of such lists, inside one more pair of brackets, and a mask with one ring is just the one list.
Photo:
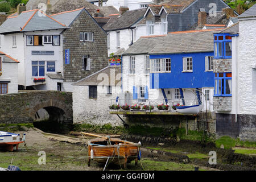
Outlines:
{"label": "grey slate-hung panel between the two stacked blue bay windows", "polygon": [[232,59],[213,59],[213,72],[232,72]]}

